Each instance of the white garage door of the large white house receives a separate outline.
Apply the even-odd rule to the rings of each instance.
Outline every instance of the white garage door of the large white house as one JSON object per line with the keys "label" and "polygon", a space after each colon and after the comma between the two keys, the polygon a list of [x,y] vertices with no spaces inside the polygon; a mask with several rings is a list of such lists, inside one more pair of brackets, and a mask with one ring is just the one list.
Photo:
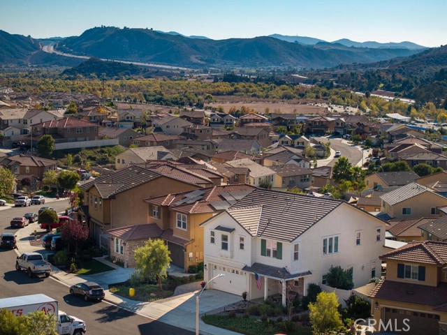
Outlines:
{"label": "white garage door of the large white house", "polygon": [[212,281],[212,288],[223,292],[233,293],[233,295],[241,295],[247,290],[246,278],[247,274],[240,269],[233,269],[230,267],[213,267],[212,276],[218,274],[225,274],[223,277],[218,277]]}

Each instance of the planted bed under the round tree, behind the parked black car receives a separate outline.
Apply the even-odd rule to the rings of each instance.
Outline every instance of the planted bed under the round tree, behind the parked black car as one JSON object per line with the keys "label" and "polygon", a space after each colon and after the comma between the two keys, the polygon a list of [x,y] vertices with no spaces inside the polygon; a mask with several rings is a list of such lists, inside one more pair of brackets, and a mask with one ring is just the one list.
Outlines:
{"label": "planted bed under the round tree, behind the parked black car", "polygon": [[[135,295],[131,297],[129,295],[129,288],[135,289]],[[127,299],[138,300],[138,301],[154,301],[159,299],[165,299],[172,297],[174,294],[172,285],[162,285],[163,290],[159,291],[158,285],[153,284],[138,284],[131,285],[130,283],[122,283],[119,285],[113,285],[109,287],[111,293],[121,295]],[[151,297],[152,294],[152,297]]]}

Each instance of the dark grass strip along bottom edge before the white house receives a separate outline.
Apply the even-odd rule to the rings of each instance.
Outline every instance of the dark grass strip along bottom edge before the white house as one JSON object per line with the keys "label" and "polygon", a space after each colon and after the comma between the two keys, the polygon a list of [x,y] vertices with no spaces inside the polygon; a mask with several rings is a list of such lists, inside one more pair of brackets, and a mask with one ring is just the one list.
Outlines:
{"label": "dark grass strip along bottom edge before the white house", "polygon": [[312,335],[310,327],[302,327],[291,322],[288,329],[285,322],[263,322],[259,318],[230,318],[228,315],[204,315],[203,322],[219,328],[228,329],[245,335],[272,335],[286,333],[288,335]]}

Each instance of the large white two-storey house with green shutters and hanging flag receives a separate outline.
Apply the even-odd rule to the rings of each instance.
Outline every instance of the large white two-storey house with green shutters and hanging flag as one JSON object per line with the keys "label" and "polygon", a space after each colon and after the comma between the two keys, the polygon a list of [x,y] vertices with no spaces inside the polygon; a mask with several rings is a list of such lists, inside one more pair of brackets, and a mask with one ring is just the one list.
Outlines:
{"label": "large white two-storey house with green shutters and hanging flag", "polygon": [[[331,265],[350,269],[355,287],[380,276],[384,221],[342,200],[257,188],[201,224],[205,281],[248,299],[306,295]],[[261,277],[261,288],[255,276]]]}

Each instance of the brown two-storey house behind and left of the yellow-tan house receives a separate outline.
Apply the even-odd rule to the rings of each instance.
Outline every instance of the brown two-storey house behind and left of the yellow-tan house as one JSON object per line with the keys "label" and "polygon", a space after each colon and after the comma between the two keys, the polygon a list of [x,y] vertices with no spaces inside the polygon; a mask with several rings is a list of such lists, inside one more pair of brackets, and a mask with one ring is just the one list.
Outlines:
{"label": "brown two-storey house behind and left of the yellow-tan house", "polygon": [[[200,188],[189,179],[180,179],[133,165],[105,174],[80,186],[84,191],[82,220],[98,246],[109,246],[110,229],[147,224],[145,198],[163,195],[166,190],[182,192]],[[124,241],[119,241],[124,245]],[[110,245],[111,247],[112,245]],[[112,252],[112,250],[111,250]],[[126,252],[126,246],[123,248]]]}

